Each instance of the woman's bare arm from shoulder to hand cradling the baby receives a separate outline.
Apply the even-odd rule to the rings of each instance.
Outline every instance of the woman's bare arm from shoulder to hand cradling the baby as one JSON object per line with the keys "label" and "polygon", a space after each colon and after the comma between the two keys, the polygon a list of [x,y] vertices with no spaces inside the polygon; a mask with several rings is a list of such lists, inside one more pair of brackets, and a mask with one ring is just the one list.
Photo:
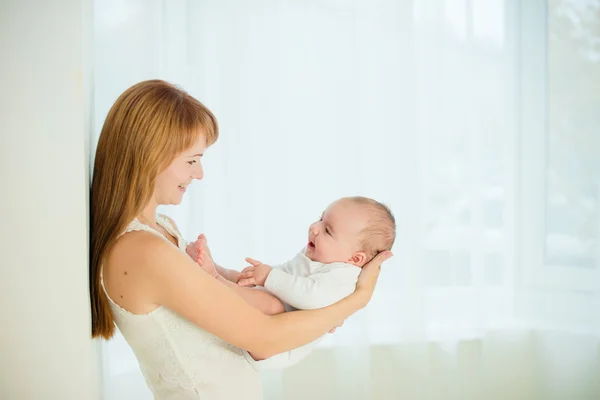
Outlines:
{"label": "woman's bare arm from shoulder to hand cradling the baby", "polygon": [[[209,276],[183,252],[151,234],[136,236],[130,243],[133,264],[139,268],[148,303],[164,305],[202,329],[268,358],[300,347],[341,324],[370,300],[380,256],[363,268],[357,290],[330,307],[268,316]],[[389,253],[391,255],[391,253]]]}

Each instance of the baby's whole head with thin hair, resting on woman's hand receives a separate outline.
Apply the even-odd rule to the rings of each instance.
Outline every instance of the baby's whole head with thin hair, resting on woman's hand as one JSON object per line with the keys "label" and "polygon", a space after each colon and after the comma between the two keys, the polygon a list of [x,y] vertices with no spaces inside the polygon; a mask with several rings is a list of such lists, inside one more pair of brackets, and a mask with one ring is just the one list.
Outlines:
{"label": "baby's whole head with thin hair, resting on woman's hand", "polygon": [[387,206],[366,197],[345,197],[310,226],[305,254],[325,264],[363,267],[380,251],[391,250],[395,239],[396,220]]}

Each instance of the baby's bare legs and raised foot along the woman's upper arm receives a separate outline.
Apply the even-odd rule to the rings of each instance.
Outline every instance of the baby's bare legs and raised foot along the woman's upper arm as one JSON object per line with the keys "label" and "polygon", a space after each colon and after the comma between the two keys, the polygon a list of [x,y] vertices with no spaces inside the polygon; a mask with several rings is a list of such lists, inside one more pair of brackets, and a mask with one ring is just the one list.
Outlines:
{"label": "baby's bare legs and raised foot along the woman's upper arm", "polygon": [[239,286],[234,283],[234,281],[232,281],[232,277],[235,276],[233,279],[235,279],[235,282],[237,282],[237,275],[239,275],[239,273],[215,264],[210,253],[210,249],[208,248],[208,242],[204,235],[198,236],[198,240],[190,243],[186,249],[186,252],[206,272],[239,294],[246,301],[246,303],[262,311],[264,314],[275,315],[281,314],[285,311],[281,301],[272,294],[259,289]]}

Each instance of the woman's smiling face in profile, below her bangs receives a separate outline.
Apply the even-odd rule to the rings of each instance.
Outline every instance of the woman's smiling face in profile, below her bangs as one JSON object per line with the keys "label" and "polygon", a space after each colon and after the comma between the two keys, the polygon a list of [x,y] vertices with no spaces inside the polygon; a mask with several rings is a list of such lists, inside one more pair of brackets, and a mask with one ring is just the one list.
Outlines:
{"label": "woman's smiling face in profile, below her bangs", "polygon": [[200,136],[189,149],[179,154],[171,165],[156,177],[154,199],[157,204],[179,204],[192,180],[202,179],[202,156],[206,150],[206,138]]}

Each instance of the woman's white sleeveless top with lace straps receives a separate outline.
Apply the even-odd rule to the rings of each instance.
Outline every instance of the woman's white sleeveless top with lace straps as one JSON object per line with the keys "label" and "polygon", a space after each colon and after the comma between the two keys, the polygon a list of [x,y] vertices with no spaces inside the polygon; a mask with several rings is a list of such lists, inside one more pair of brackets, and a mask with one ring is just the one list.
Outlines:
{"label": "woman's white sleeveless top with lace straps", "polygon": [[[179,249],[185,252],[185,240],[169,220],[157,216],[157,222],[177,238]],[[137,219],[122,234],[131,231],[148,231],[167,240]],[[164,306],[148,314],[133,314],[108,298],[117,327],[133,349],[155,400],[263,398],[260,376],[241,349]]]}

